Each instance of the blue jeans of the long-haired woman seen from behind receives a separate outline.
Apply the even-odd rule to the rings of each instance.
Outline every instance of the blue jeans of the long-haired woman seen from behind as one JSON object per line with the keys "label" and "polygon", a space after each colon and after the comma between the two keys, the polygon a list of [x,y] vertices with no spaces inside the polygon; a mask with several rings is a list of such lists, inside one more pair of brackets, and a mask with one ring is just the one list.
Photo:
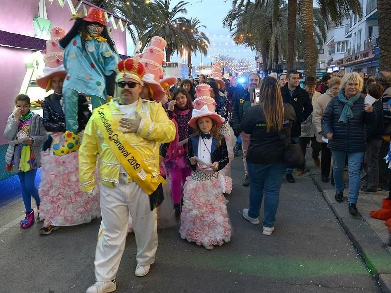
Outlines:
{"label": "blue jeans of the long-haired woman seen from behind", "polygon": [[282,177],[286,166],[284,164],[253,164],[247,162],[250,178],[250,208],[249,217],[258,218],[264,200],[264,217],[262,224],[273,227],[277,213]]}

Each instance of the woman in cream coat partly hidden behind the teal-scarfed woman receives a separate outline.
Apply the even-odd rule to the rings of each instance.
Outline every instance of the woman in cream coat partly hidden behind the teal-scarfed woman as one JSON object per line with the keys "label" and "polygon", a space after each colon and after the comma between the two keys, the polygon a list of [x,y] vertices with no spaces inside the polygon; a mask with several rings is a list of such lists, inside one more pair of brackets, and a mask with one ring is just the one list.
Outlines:
{"label": "woman in cream coat partly hidden behind the teal-scarfed woman", "polygon": [[331,168],[331,151],[327,147],[327,144],[322,140],[322,117],[325,113],[328,103],[333,97],[338,94],[339,84],[341,83],[340,77],[332,77],[328,81],[328,89],[326,92],[318,97],[314,101],[314,110],[312,112],[312,122],[314,125],[314,131],[317,136],[317,142],[321,143],[322,147],[322,156],[321,156],[321,170],[322,170],[322,182],[328,182],[328,177],[330,176]]}

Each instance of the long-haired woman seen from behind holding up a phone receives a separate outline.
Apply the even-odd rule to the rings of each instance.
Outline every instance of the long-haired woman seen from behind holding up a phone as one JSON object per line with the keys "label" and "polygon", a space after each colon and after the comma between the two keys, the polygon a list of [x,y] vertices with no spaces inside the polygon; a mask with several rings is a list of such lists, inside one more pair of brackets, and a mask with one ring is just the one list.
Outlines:
{"label": "long-haired woman seen from behind holding up a phone", "polygon": [[270,235],[274,230],[279,191],[286,170],[283,163],[284,142],[278,132],[285,133],[290,140],[296,114],[290,104],[283,103],[275,78],[264,78],[260,92],[259,105],[247,110],[240,125],[243,132],[251,134],[247,151],[250,207],[243,209],[243,217],[253,224],[260,223],[258,217],[264,194],[263,234]]}

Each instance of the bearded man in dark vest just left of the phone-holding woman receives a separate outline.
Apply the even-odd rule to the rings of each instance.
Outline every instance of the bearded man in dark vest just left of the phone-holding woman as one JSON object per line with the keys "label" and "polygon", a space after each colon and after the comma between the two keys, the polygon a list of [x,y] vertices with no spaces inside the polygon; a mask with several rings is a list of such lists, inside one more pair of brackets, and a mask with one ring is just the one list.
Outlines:
{"label": "bearded man in dark vest just left of the phone-holding woman", "polygon": [[245,180],[243,186],[250,186],[249,173],[247,171],[247,149],[250,144],[250,135],[242,132],[240,123],[247,110],[251,107],[250,92],[256,87],[260,87],[261,76],[258,73],[251,73],[247,80],[247,90],[238,91],[235,98],[234,106],[232,108],[232,127],[235,132],[235,136],[239,135],[242,138],[242,150],[243,150],[243,164],[245,169]]}

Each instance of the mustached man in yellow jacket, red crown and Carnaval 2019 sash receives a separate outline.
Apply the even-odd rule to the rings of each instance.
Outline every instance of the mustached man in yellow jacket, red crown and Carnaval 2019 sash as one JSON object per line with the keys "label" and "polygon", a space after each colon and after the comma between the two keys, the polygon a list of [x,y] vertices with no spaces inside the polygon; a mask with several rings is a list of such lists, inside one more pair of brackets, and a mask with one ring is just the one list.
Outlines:
{"label": "mustached man in yellow jacket, red crown and Carnaval 2019 sash", "polygon": [[[80,188],[91,191],[98,160],[102,222],[95,254],[96,283],[87,293],[113,292],[125,249],[128,216],[137,243],[138,277],[149,272],[157,249],[156,210],[163,200],[159,145],[175,138],[175,126],[160,103],[139,97],[145,71],[137,60],[117,68],[119,99],[94,110],[79,149]],[[99,153],[99,157],[98,157]]]}

